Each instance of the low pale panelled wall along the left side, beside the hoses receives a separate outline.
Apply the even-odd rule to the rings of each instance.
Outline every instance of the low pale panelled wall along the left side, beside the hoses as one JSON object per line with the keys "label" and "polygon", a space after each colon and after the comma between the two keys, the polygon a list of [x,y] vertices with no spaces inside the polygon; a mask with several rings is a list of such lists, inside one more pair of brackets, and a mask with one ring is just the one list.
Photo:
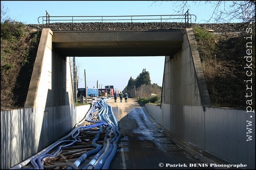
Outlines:
{"label": "low pale panelled wall along the left side, beside the hoses", "polygon": [[1,169],[25,161],[72,130],[87,114],[90,105],[23,108],[1,111]]}

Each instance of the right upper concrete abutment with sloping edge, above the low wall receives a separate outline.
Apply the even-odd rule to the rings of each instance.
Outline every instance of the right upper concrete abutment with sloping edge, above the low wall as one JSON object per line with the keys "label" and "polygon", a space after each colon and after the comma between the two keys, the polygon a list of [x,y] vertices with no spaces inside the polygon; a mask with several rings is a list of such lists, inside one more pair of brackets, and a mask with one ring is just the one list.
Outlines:
{"label": "right upper concrete abutment with sloping edge, above the low wall", "polygon": [[[191,45],[192,44],[192,45]],[[183,32],[182,50],[165,57],[162,102],[171,105],[210,105],[192,28]]]}

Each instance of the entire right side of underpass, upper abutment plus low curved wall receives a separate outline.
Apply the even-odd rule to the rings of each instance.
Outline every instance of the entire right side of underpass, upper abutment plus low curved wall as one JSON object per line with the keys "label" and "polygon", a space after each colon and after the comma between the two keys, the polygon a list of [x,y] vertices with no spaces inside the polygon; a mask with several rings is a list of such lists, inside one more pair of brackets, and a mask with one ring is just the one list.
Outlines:
{"label": "entire right side of underpass, upper abutment plus low curved wall", "polygon": [[249,117],[247,111],[210,107],[192,28],[184,31],[182,46],[173,57],[165,57],[161,107],[146,104],[146,110],[200,153],[254,169],[255,113]]}

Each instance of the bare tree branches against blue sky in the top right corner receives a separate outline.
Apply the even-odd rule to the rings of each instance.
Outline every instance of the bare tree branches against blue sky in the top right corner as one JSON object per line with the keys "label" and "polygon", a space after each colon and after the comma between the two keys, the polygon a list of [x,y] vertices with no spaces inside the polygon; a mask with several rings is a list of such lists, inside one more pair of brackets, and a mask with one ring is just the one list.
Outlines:
{"label": "bare tree branches against blue sky in the top right corner", "polygon": [[[166,1],[165,1],[166,2]],[[175,7],[177,14],[184,14],[191,6],[211,5],[212,15],[206,22],[214,20],[216,23],[230,23],[238,20],[241,23],[255,22],[255,1],[168,1]],[[162,1],[153,1],[153,4]]]}

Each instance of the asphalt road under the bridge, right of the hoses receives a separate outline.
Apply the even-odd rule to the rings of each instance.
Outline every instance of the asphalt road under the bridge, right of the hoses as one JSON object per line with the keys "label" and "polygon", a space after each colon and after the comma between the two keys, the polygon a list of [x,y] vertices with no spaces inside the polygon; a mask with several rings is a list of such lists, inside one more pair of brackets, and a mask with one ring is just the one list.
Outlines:
{"label": "asphalt road under the bridge, right of the hoses", "polygon": [[[165,136],[133,99],[107,100],[123,137],[109,169],[210,169]],[[197,164],[200,163],[200,164]],[[209,166],[209,165],[208,165]],[[200,168],[199,168],[200,167]]]}

